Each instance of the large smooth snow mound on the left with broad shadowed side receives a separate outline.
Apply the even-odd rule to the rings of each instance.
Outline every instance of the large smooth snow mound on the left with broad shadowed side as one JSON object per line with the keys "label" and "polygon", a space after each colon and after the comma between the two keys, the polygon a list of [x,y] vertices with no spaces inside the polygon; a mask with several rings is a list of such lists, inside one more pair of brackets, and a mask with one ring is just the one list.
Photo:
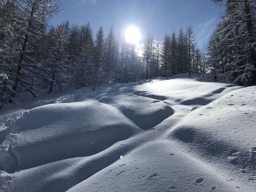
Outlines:
{"label": "large smooth snow mound on the left with broad shadowed side", "polygon": [[9,147],[1,161],[8,162],[11,155],[15,164],[3,163],[2,170],[24,170],[96,154],[129,138],[137,129],[117,109],[96,101],[33,108],[15,122],[18,134],[9,134],[3,142],[2,146]]}

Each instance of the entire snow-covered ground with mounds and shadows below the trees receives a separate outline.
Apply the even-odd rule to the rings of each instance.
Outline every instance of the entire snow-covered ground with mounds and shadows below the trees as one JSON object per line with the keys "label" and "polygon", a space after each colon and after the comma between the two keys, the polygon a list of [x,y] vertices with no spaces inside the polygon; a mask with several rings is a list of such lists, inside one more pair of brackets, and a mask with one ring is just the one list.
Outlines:
{"label": "entire snow-covered ground with mounds and shadows below the trees", "polygon": [[0,116],[0,191],[256,191],[256,87],[193,75],[40,96]]}

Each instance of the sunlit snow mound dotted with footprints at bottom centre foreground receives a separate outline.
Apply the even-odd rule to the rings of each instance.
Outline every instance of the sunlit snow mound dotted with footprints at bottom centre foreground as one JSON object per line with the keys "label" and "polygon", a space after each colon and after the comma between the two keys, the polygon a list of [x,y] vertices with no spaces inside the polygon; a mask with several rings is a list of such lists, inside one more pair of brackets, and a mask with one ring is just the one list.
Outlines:
{"label": "sunlit snow mound dotted with footprints at bottom centre foreground", "polygon": [[236,191],[224,175],[180,148],[166,140],[150,142],[68,191]]}

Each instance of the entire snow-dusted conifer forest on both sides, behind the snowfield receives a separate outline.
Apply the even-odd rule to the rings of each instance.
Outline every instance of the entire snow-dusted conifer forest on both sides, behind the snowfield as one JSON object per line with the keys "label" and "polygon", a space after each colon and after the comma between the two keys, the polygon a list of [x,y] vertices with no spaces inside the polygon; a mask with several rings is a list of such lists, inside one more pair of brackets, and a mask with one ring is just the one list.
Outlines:
{"label": "entire snow-dusted conifer forest on both sides, behind the snowfield", "polygon": [[256,84],[255,2],[220,0],[226,11],[212,34],[207,53],[196,45],[192,26],[148,34],[142,54],[122,35],[90,23],[49,26],[60,11],[55,0],[0,1],[0,108],[24,92],[34,97],[67,88],[129,83],[180,73],[200,73],[205,81]]}

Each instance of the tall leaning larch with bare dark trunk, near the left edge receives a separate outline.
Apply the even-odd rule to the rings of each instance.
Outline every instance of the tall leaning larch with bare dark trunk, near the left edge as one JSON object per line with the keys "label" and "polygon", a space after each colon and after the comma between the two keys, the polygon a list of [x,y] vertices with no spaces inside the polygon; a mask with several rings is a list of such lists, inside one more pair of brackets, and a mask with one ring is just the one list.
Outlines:
{"label": "tall leaning larch with bare dark trunk, near the left edge", "polygon": [[[17,69],[15,72],[13,92],[14,97],[19,85],[26,91],[33,91],[26,85],[28,73],[33,72],[34,63],[30,54],[33,53],[36,41],[44,36],[42,28],[45,27],[45,20],[59,10],[59,1],[56,0],[17,0],[14,1],[19,14],[18,17],[18,34],[21,42],[21,50],[18,55]],[[35,96],[35,95],[34,95]],[[10,99],[10,103],[13,99]]]}

